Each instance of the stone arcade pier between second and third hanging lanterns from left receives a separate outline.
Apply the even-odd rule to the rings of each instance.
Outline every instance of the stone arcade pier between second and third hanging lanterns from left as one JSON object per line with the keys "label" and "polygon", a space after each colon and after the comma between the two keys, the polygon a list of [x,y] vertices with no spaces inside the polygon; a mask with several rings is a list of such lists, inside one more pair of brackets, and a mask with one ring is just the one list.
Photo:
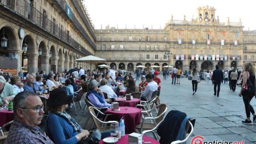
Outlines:
{"label": "stone arcade pier between second and third hanging lanterns from left", "polygon": [[38,71],[38,54],[28,54],[28,73],[34,73]]}

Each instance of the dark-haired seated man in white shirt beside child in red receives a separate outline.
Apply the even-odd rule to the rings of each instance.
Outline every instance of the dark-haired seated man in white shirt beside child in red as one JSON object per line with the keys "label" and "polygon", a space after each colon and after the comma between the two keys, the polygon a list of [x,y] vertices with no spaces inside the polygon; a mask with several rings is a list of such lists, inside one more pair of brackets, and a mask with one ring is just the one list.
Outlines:
{"label": "dark-haired seated man in white shirt beside child in red", "polygon": [[146,75],[146,81],[147,81],[147,86],[144,90],[144,93],[140,96],[140,100],[144,100],[144,101],[150,100],[153,92],[156,91],[158,88],[157,83],[152,78],[152,74]]}

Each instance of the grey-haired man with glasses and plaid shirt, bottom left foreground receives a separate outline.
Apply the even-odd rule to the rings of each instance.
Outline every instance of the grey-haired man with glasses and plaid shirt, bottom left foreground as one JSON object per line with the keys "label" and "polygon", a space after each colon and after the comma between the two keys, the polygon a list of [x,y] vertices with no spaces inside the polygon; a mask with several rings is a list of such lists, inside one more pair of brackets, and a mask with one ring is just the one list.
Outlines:
{"label": "grey-haired man with glasses and plaid shirt, bottom left foreground", "polygon": [[13,100],[14,121],[6,144],[53,144],[38,127],[43,120],[44,105],[33,92],[20,92]]}

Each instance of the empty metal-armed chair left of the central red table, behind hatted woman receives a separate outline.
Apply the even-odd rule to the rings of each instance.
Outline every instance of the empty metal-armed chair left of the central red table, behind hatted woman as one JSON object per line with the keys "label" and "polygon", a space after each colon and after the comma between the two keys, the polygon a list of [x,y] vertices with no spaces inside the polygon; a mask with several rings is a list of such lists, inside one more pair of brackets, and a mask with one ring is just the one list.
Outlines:
{"label": "empty metal-armed chair left of the central red table, behind hatted woman", "polygon": [[[88,110],[89,110],[89,112],[90,112],[90,115],[92,116],[92,120],[93,120],[93,122],[94,122],[96,128],[98,128],[98,130],[99,130],[100,132],[102,132],[102,131],[104,131],[104,130],[109,130],[109,126],[107,126],[107,124],[113,124],[113,123],[118,124],[117,121],[108,121],[108,122],[105,122],[106,118],[107,118],[108,116],[110,116],[111,114],[104,114],[104,113],[102,113],[100,110],[98,110],[97,108],[94,108],[94,107],[92,107],[92,106],[89,106]],[[94,110],[96,110],[96,111],[98,112],[98,114],[100,113],[100,114],[106,116],[105,119],[104,119],[104,121],[102,121],[102,120],[100,120],[100,119],[97,118],[97,116],[96,116]],[[98,115],[98,114],[97,114],[97,115]],[[100,123],[102,123],[102,126],[100,126]]]}

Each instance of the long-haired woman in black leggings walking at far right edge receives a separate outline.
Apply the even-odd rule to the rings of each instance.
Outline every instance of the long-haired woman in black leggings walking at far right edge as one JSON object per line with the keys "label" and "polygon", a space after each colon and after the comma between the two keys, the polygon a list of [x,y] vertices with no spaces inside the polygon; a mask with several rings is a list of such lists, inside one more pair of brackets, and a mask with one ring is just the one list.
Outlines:
{"label": "long-haired woman in black leggings walking at far right edge", "polygon": [[[252,84],[252,92],[251,93],[246,93],[246,90],[244,90],[244,86],[246,86],[247,81],[250,80]],[[251,62],[246,62],[244,64],[244,72],[243,72],[243,77],[242,77],[242,88],[240,90],[239,96],[243,96],[244,100],[244,106],[245,106],[245,112],[246,112],[246,120],[242,121],[243,124],[251,124],[252,121],[250,120],[250,112],[253,115],[253,122],[256,120],[256,115],[254,112],[253,107],[250,105],[250,101],[255,95],[255,67]],[[244,90],[244,91],[243,91]]]}

